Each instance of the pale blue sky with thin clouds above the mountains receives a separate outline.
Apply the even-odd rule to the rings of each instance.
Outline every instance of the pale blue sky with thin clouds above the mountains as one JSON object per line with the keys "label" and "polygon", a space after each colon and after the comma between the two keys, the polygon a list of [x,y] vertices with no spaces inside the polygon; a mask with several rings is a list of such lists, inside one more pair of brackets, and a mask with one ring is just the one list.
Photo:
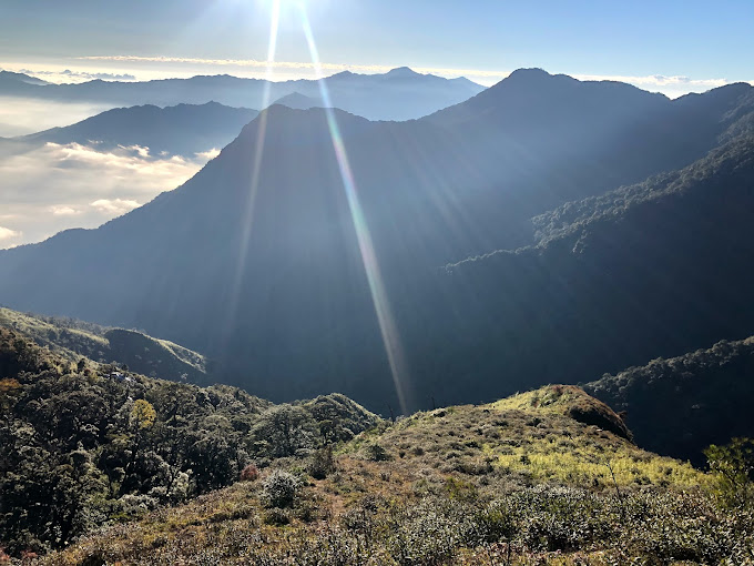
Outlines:
{"label": "pale blue sky with thin clouds above the mountains", "polygon": [[[263,75],[264,69],[253,64],[217,60],[266,58],[272,3],[2,0],[0,67],[137,78]],[[283,4],[276,59],[307,62],[296,1]],[[722,81],[754,81],[754,0],[307,0],[306,6],[320,58],[333,64],[326,67],[332,72],[338,65],[363,65],[355,67],[363,72],[409,65],[446,75],[463,71],[489,84],[517,68],[540,67],[579,77],[625,78],[671,94],[707,90]],[[124,55],[146,59],[80,59]],[[284,67],[276,77],[308,73],[307,68]],[[690,81],[648,78],[652,75]]]}

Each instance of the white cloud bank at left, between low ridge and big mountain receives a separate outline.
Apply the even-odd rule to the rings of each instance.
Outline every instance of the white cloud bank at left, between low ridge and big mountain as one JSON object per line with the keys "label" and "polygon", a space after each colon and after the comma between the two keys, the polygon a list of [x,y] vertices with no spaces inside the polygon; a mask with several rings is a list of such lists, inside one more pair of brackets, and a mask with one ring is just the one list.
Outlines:
{"label": "white cloud bank at left, between low ridge and big mountain", "polygon": [[139,145],[0,146],[0,247],[95,228],[179,186],[214,154],[164,159]]}

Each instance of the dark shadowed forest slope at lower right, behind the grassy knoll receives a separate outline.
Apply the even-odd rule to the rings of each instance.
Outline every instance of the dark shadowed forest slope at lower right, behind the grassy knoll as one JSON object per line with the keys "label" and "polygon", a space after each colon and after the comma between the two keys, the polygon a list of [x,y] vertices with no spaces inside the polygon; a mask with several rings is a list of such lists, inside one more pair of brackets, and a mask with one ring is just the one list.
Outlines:
{"label": "dark shadowed forest slope at lower right, behind the grassy knoll", "polygon": [[652,360],[584,388],[628,413],[641,446],[700,463],[710,444],[754,436],[754,337]]}

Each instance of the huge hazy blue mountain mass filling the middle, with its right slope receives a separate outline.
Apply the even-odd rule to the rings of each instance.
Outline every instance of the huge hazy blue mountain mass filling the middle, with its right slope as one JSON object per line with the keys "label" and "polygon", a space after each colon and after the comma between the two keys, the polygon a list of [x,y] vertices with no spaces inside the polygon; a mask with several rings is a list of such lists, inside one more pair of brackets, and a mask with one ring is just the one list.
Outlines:
{"label": "huge hazy blue mountain mass filling the middle, with its right slope", "polygon": [[0,296],[144,329],[274,400],[397,406],[385,334],[409,408],[591,381],[754,333],[753,90],[522,70],[408,122],[273,105],[177,190],[0,252]]}

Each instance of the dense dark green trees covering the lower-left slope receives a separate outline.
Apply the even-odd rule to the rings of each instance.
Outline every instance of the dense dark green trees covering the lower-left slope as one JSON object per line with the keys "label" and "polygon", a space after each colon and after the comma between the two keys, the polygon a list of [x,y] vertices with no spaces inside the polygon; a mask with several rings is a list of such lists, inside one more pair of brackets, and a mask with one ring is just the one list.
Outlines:
{"label": "dense dark green trees covering the lower-left slope", "polygon": [[0,542],[13,555],[64,547],[379,421],[339,395],[272,405],[228,386],[74,364],[2,329],[0,408]]}

